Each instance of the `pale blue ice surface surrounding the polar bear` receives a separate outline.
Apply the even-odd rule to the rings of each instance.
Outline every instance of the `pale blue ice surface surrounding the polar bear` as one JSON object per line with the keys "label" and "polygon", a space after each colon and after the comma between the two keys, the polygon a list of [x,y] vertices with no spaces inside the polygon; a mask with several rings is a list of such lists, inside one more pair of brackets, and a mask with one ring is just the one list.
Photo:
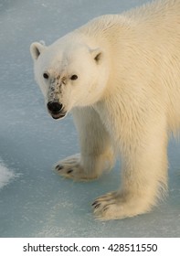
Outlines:
{"label": "pale blue ice surface surrounding the polar bear", "polygon": [[[79,183],[52,171],[79,152],[69,115],[50,118],[33,75],[29,45],[52,43],[94,16],[121,13],[144,0],[6,0],[0,3],[0,157],[15,178],[0,189],[0,237],[179,237],[180,144],[169,144],[169,196],[151,213],[97,221],[90,204],[119,187],[119,164]],[[1,177],[0,177],[1,178]]]}

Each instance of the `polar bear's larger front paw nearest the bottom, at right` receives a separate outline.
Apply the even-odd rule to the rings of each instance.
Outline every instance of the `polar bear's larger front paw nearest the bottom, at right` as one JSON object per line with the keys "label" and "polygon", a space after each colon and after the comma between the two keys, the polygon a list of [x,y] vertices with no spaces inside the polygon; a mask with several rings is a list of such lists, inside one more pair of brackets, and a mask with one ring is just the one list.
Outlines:
{"label": "polar bear's larger front paw nearest the bottom, at right", "polygon": [[98,197],[92,204],[92,208],[96,219],[100,220],[124,219],[148,211],[141,200],[138,201],[134,197],[127,198],[116,191]]}

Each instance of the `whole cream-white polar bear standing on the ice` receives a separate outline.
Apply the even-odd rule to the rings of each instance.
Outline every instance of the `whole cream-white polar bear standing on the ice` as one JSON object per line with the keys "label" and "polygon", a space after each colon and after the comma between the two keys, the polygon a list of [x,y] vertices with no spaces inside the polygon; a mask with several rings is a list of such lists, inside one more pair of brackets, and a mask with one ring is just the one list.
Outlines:
{"label": "whole cream-white polar bear standing on the ice", "polygon": [[121,186],[97,219],[150,211],[167,190],[167,142],[180,127],[180,1],[91,20],[50,46],[33,43],[35,78],[54,119],[72,112],[80,154],[59,175],[90,180],[121,157]]}

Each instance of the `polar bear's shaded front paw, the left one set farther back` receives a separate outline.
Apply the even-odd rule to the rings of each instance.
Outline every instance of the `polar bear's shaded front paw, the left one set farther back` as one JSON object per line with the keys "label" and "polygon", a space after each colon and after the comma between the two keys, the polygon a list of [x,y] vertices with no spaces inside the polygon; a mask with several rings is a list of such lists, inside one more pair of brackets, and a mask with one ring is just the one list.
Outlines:
{"label": "polar bear's shaded front paw, the left one set farther back", "polygon": [[88,181],[96,178],[96,176],[85,172],[80,163],[80,155],[72,155],[59,161],[55,165],[55,170],[58,172],[58,175],[74,180]]}

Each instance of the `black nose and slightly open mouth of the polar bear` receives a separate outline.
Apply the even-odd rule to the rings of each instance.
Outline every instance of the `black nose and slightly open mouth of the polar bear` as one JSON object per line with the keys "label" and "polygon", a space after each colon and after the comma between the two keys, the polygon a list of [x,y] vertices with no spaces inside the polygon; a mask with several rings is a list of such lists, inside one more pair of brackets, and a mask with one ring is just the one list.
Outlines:
{"label": "black nose and slightly open mouth of the polar bear", "polygon": [[66,115],[66,112],[63,112],[63,105],[58,101],[48,101],[47,108],[54,119],[59,119]]}

